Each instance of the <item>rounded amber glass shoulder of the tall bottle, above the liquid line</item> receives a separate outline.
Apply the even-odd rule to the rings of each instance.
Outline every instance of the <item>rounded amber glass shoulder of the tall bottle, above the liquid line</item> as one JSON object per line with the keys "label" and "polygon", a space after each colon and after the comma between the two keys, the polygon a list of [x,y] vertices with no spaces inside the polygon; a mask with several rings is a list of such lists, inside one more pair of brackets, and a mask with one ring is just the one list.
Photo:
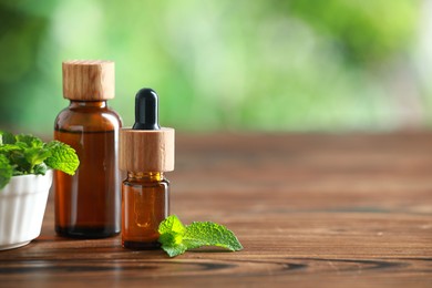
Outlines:
{"label": "rounded amber glass shoulder of the tall bottle, above the liquid line", "polygon": [[116,131],[122,127],[122,119],[111,107],[63,109],[56,116],[54,130],[65,131]]}

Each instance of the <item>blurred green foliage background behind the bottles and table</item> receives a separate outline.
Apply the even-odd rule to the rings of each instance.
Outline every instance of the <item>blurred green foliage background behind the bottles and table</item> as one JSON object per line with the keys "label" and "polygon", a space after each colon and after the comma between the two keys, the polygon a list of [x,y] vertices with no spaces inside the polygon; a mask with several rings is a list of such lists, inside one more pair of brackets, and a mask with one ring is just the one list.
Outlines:
{"label": "blurred green foliage background behind the bottles and table", "polygon": [[1,0],[0,128],[51,133],[61,62],[116,63],[181,131],[430,128],[429,0]]}

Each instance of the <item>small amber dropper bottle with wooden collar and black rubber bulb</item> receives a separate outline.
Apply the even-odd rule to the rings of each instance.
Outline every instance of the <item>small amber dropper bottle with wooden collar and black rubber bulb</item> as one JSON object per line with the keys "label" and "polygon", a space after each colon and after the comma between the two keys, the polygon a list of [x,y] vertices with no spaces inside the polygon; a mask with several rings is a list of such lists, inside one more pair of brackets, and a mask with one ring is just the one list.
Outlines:
{"label": "small amber dropper bottle with wooden collar and black rubber bulb", "polygon": [[157,94],[142,89],[135,96],[135,124],[120,131],[122,185],[122,245],[156,249],[158,225],[169,213],[169,182],[174,169],[174,130],[160,127]]}

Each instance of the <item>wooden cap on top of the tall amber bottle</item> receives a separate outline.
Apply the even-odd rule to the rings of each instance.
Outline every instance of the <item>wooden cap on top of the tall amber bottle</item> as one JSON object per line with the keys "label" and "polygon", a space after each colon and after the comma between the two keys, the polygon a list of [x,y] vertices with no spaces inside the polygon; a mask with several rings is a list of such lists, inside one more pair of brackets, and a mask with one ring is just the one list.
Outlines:
{"label": "wooden cap on top of the tall amber bottle", "polygon": [[72,60],[62,63],[63,97],[100,101],[114,97],[114,62]]}

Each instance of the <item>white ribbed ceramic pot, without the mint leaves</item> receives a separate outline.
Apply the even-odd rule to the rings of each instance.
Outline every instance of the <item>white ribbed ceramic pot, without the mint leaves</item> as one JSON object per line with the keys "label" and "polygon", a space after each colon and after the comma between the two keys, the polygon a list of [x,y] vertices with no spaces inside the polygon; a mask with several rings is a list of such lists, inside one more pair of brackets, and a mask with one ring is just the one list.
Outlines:
{"label": "white ribbed ceramic pot, without the mint leaves", "polygon": [[48,171],[13,176],[0,189],[0,250],[24,246],[41,234],[51,183],[52,171]]}

